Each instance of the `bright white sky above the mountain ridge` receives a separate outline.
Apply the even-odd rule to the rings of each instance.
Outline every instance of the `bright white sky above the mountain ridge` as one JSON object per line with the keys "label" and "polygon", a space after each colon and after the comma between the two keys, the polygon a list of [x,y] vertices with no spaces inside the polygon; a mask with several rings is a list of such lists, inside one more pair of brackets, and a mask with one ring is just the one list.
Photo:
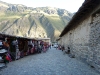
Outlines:
{"label": "bright white sky above the mountain ridge", "polygon": [[28,7],[56,7],[69,12],[77,12],[85,0],[0,0],[11,4],[23,4]]}

